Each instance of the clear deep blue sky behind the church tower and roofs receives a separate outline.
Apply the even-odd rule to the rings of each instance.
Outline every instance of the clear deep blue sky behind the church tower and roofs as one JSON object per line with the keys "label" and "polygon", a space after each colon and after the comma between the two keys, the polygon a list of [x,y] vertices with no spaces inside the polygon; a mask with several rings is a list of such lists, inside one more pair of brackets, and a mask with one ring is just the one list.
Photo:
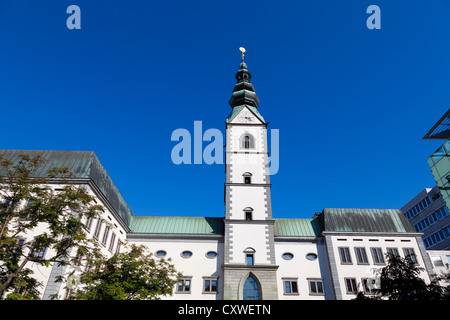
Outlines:
{"label": "clear deep blue sky behind the church tower and roofs", "polygon": [[280,133],[273,216],[397,209],[435,184],[441,141],[422,137],[450,107],[449,16],[444,0],[2,0],[0,147],[92,150],[136,215],[221,217],[224,166],[173,164],[170,137],[224,133],[243,46]]}

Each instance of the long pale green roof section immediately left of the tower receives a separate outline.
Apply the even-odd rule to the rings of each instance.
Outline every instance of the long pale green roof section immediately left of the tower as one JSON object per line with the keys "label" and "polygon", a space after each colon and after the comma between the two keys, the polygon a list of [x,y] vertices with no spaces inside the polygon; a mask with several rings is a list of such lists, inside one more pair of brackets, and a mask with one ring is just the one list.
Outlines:
{"label": "long pale green roof section immediately left of the tower", "polygon": [[222,235],[223,218],[134,216],[132,233]]}

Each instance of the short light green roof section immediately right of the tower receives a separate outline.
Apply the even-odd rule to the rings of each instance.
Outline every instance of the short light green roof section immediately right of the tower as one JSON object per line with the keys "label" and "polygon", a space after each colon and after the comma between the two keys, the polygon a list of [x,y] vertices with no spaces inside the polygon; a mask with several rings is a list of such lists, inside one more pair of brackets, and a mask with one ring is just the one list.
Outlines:
{"label": "short light green roof section immediately right of the tower", "polygon": [[276,219],[274,234],[276,237],[317,237],[320,226],[313,219]]}

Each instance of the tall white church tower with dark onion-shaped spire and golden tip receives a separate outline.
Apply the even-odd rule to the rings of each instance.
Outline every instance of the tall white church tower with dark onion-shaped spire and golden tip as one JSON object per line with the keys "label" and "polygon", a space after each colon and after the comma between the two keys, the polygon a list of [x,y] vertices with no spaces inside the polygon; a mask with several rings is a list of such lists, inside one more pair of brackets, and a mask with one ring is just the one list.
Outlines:
{"label": "tall white church tower with dark onion-shaped spire and golden tip", "polygon": [[277,299],[267,123],[244,62],[229,101],[225,155],[224,299]]}

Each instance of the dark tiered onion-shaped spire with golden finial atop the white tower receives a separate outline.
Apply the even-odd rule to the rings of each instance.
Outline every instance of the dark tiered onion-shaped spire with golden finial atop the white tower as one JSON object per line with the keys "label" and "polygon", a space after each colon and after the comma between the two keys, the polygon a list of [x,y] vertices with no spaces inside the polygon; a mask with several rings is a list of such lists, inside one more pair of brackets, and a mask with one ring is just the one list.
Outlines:
{"label": "dark tiered onion-shaped spire with golden finial atop the white tower", "polygon": [[247,70],[247,64],[244,62],[244,52],[246,50],[242,47],[239,50],[242,52],[242,62],[239,65],[239,71],[236,72],[235,78],[237,83],[234,86],[233,95],[228,103],[232,108],[242,105],[256,108],[259,105],[259,99],[256,96],[253,85],[250,83],[252,74]]}

